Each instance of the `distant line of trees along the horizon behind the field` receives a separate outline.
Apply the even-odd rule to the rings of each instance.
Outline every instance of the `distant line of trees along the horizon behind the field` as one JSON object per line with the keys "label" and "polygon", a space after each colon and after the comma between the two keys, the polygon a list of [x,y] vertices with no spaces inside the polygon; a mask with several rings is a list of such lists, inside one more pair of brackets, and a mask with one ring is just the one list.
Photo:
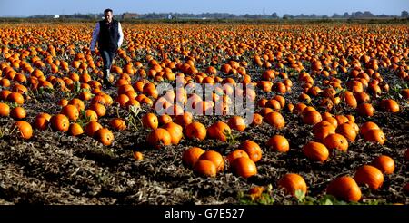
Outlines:
{"label": "distant line of trees along the horizon behind the field", "polygon": [[[73,14],[73,15],[59,15],[60,19],[99,19],[102,18],[103,14]],[[118,15],[116,15],[118,16]],[[185,13],[148,13],[148,14],[135,14],[135,13],[125,13],[119,15],[121,19],[360,19],[360,18],[409,18],[409,13],[407,11],[402,11],[401,15],[374,15],[369,11],[365,12],[353,12],[351,14],[344,13],[343,15],[289,15],[284,14],[282,17],[278,16],[276,13],[271,15],[261,15],[261,14],[244,14],[235,15],[228,13],[202,13],[202,14],[185,14]],[[30,18],[55,18],[55,15],[33,15]]]}

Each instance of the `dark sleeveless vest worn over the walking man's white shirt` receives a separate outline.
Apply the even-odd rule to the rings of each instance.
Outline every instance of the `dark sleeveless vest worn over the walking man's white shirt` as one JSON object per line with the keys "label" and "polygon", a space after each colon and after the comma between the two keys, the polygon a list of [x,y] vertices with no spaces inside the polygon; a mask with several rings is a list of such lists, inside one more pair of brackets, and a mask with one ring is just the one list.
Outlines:
{"label": "dark sleeveless vest worn over the walking man's white shirt", "polygon": [[116,52],[118,50],[118,21],[113,20],[108,24],[105,20],[99,21],[98,46],[100,50]]}

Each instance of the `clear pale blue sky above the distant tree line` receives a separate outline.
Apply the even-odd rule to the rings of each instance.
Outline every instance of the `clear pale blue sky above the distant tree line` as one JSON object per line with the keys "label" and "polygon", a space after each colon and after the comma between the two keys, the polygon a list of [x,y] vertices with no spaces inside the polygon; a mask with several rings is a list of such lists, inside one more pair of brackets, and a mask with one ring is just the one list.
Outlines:
{"label": "clear pale blue sky above the distant tree line", "polygon": [[0,16],[100,13],[112,8],[145,13],[231,13],[241,14],[351,14],[370,11],[374,15],[401,15],[409,11],[409,0],[0,0]]}

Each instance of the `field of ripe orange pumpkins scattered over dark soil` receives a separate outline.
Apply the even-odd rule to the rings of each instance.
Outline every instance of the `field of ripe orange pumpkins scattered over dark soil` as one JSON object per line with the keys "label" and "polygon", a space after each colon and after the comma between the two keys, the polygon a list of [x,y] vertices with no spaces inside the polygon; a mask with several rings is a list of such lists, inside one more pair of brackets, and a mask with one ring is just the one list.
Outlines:
{"label": "field of ripe orange pumpkins scattered over dark soil", "polygon": [[0,24],[0,204],[409,204],[407,24],[122,26],[107,88],[94,23]]}

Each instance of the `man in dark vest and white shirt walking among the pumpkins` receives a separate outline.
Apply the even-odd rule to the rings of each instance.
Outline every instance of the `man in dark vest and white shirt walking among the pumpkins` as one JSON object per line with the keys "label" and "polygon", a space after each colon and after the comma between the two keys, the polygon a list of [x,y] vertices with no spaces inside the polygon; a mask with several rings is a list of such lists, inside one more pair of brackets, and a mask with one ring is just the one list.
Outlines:
{"label": "man in dark vest and white shirt walking among the pumpkins", "polygon": [[91,41],[91,52],[95,53],[95,44],[98,41],[98,50],[104,63],[104,85],[112,87],[110,79],[111,65],[116,56],[116,51],[124,41],[124,33],[121,24],[113,19],[112,9],[105,9],[105,19],[95,25],[93,39]]}

